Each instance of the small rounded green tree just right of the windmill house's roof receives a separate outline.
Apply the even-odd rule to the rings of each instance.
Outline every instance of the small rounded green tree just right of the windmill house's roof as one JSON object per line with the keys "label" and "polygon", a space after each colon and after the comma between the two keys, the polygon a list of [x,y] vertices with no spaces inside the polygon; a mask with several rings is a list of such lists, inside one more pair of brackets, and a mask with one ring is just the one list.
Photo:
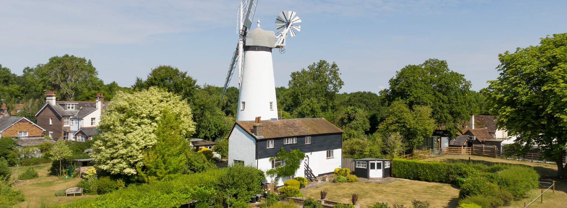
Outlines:
{"label": "small rounded green tree just right of the windmill house's roof", "polygon": [[370,129],[367,113],[357,107],[346,108],[338,118],[338,126],[345,131],[342,135],[343,140],[362,138]]}

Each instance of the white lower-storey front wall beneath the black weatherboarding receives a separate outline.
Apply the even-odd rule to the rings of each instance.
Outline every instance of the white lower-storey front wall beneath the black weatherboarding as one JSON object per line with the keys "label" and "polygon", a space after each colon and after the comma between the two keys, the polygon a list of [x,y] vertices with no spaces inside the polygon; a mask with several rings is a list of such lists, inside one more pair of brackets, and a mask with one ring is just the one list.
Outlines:
{"label": "white lower-storey front wall beneath the black weatherboarding", "polygon": [[[313,171],[315,176],[319,176],[323,173],[329,173],[335,171],[335,168],[341,167],[341,155],[342,149],[334,150],[335,158],[327,159],[327,151],[318,151],[318,152],[307,152],[305,155],[309,156],[309,167]],[[305,177],[305,166],[304,162],[301,161],[299,164],[299,169],[295,171],[294,177]],[[270,162],[269,158],[262,158],[258,160],[258,169],[266,172],[268,169],[272,168],[272,162]],[[352,170],[354,171],[354,170]],[[266,175],[266,180],[272,181],[274,177],[269,177]],[[278,179],[278,186],[284,185],[284,181],[288,178],[280,178]]]}

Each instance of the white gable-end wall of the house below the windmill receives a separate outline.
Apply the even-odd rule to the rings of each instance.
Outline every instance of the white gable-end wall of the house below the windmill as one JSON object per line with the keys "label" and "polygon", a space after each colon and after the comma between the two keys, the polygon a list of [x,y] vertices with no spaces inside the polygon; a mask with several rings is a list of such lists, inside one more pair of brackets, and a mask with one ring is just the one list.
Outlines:
{"label": "white gable-end wall of the house below the windmill", "polygon": [[256,167],[256,139],[235,125],[229,137],[229,164],[233,160],[244,160],[245,165]]}

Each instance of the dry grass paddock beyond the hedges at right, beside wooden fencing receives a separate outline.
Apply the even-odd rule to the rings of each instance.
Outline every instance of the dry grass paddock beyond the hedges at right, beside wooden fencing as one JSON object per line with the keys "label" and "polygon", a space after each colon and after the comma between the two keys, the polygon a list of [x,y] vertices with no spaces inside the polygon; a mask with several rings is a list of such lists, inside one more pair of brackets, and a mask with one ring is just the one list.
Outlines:
{"label": "dry grass paddock beyond the hedges at right, beside wooden fencing", "polygon": [[[518,160],[509,160],[509,159],[501,159],[501,158],[490,158],[490,157],[483,157],[483,156],[474,156],[474,155],[443,155],[437,158],[428,158],[423,159],[422,161],[442,161],[442,162],[466,162],[471,158],[471,162],[475,163],[509,163],[509,164],[523,164],[534,167],[536,171],[538,171],[540,175],[540,181],[544,182],[551,182],[551,180],[556,180],[555,182],[555,193],[549,189],[545,192],[543,196],[543,203],[541,203],[540,199],[538,198],[534,203],[532,203],[529,207],[566,207],[565,203],[567,200],[567,180],[558,180],[555,178],[557,174],[557,165],[555,164],[545,164],[545,163],[531,163],[531,162],[524,162]],[[547,186],[549,184],[540,184],[540,187]],[[547,188],[545,187],[545,188]],[[532,199],[539,196],[541,193],[540,189],[532,190],[528,193],[528,197],[521,199],[519,201],[513,202],[509,207],[523,207],[524,202],[530,203]]]}

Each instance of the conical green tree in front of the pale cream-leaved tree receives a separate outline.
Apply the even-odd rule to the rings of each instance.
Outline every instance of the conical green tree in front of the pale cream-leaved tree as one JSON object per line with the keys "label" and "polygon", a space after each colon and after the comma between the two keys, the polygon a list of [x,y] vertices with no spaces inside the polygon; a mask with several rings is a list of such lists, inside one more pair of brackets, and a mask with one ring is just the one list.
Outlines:
{"label": "conical green tree in front of the pale cream-leaved tree", "polygon": [[[143,152],[143,167],[137,167],[140,178],[145,182],[162,180],[168,175],[202,172],[212,169],[205,156],[189,151],[189,141],[181,137],[183,131],[176,114],[167,110],[155,130],[157,141]],[[190,160],[193,159],[193,160]],[[194,160],[198,160],[193,162]],[[190,163],[192,162],[192,163]]]}

